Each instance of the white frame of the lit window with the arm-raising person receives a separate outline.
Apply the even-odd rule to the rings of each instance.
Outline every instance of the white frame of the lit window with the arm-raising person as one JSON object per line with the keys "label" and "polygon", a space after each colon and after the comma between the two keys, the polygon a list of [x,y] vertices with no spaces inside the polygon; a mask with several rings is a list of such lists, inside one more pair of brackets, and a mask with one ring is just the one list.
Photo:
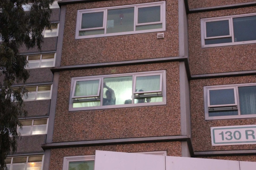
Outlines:
{"label": "white frame of the lit window with the arm-raising person", "polygon": [[[135,76],[150,76],[150,75],[161,75],[160,78],[160,86],[161,87],[161,92],[148,92],[148,94],[138,94],[138,93],[145,93],[145,92],[135,92]],[[118,104],[118,105],[107,105],[107,106],[102,106],[103,102],[103,79],[104,78],[109,78],[109,77],[124,77],[124,76],[132,76],[132,104]],[[76,81],[81,81],[81,80],[92,80],[92,79],[102,79],[101,80],[101,85],[100,85],[100,94],[99,98],[95,98],[95,101],[100,100],[100,106],[91,106],[91,107],[79,107],[79,108],[73,108],[73,102],[74,101],[79,101],[77,96],[74,96],[75,92],[75,82]],[[152,93],[152,94],[150,94]],[[153,94],[154,93],[154,94]],[[137,96],[138,94],[138,96]],[[134,99],[138,97],[162,97],[162,102],[150,102],[150,103],[134,103]],[[85,96],[81,96],[85,97]],[[90,96],[86,96],[90,97]],[[90,101],[91,99],[88,99]],[[95,110],[95,109],[110,109],[110,108],[123,108],[123,107],[137,107],[137,106],[156,106],[156,105],[165,105],[166,104],[166,71],[165,70],[157,70],[157,71],[149,71],[149,72],[133,72],[133,73],[123,73],[123,74],[113,74],[113,75],[97,75],[97,76],[87,76],[87,77],[72,77],[71,78],[71,89],[70,89],[70,98],[69,98],[69,111],[79,111],[79,110]]]}

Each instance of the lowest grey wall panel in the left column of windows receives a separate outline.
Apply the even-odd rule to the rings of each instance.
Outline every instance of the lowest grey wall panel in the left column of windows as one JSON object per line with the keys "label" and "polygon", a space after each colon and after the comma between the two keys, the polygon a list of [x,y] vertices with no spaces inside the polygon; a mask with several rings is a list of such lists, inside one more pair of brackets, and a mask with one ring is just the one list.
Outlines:
{"label": "lowest grey wall panel in the left column of windows", "polygon": [[46,135],[20,136],[16,153],[43,152],[41,145],[45,143],[45,137]]}

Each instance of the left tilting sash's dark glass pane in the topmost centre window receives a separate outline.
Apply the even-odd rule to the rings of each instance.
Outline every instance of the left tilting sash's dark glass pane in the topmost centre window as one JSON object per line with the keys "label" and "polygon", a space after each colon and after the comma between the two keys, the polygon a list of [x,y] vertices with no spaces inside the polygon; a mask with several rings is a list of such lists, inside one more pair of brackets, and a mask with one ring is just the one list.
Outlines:
{"label": "left tilting sash's dark glass pane in the topmost centre window", "polygon": [[103,15],[103,11],[82,14],[81,29],[103,27]]}

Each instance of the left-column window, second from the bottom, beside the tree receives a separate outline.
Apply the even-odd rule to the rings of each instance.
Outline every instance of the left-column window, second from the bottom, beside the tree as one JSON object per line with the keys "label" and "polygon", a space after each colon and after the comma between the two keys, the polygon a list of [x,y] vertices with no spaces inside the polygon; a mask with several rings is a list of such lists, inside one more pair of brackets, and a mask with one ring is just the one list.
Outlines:
{"label": "left-column window, second from the bottom, beside the tree", "polygon": [[18,127],[21,136],[47,134],[48,119],[20,120],[22,129]]}

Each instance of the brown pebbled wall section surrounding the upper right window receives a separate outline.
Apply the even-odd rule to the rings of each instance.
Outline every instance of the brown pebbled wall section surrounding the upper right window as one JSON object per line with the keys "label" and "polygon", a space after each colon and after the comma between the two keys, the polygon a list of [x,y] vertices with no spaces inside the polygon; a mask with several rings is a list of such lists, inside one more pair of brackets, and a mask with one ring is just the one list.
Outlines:
{"label": "brown pebbled wall section surrounding the upper right window", "polygon": [[255,7],[188,14],[191,75],[255,70],[256,44],[202,48],[200,19],[256,12]]}

